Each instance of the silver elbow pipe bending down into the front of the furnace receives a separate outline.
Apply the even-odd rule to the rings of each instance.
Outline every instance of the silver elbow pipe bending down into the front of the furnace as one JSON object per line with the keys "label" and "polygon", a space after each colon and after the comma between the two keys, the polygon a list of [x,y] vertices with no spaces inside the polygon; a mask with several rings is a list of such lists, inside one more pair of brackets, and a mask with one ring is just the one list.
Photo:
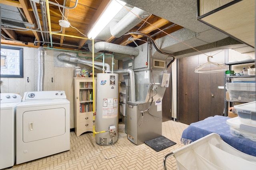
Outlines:
{"label": "silver elbow pipe bending down into the front of the furnace", "polygon": [[121,69],[121,70],[114,70],[114,73],[129,73],[130,76],[130,100],[131,102],[136,102],[135,96],[135,76],[134,71],[130,68]]}

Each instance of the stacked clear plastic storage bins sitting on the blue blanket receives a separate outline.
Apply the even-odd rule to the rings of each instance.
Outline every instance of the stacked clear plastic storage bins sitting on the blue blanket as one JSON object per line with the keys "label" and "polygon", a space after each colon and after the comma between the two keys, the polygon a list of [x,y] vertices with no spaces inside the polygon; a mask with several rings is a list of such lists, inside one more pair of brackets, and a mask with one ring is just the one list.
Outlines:
{"label": "stacked clear plastic storage bins sitting on the blue blanket", "polygon": [[256,101],[234,106],[238,117],[227,120],[230,133],[256,141]]}

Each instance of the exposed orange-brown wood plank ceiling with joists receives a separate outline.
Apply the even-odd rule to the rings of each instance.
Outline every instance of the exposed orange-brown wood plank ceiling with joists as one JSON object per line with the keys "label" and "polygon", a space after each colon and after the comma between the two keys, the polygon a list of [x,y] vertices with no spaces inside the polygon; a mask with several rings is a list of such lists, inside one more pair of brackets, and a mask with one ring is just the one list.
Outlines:
{"label": "exposed orange-brown wood plank ceiling with joists", "polygon": [[[45,1],[46,0],[42,0],[42,2],[46,3]],[[69,37],[64,35],[52,35],[53,48],[87,51],[88,48],[85,45],[86,39],[79,39],[75,37],[86,37],[85,35],[88,34],[88,31],[90,31],[90,28],[100,16],[109,1],[110,0],[78,0],[78,3],[76,5],[76,0],[49,0],[51,31],[74,36]],[[0,0],[0,6],[4,6],[4,8],[6,8],[1,8],[1,14],[8,11],[8,7],[15,7],[19,9],[20,14],[22,14],[21,16],[24,16],[23,22],[28,22],[34,25],[32,27],[24,28],[17,28],[8,24],[6,26],[6,24],[3,24],[3,21],[9,20],[8,16],[2,17],[1,15],[2,44],[23,43],[25,45],[38,46],[49,46],[51,44],[49,35],[49,24],[48,22],[43,21],[43,19],[45,18],[42,18],[42,13],[44,14],[44,11],[42,12],[40,4],[38,2],[39,0]],[[36,9],[33,8],[33,3],[36,4]],[[65,10],[63,10],[62,7],[56,5],[57,3],[60,5],[63,5],[65,3],[65,6],[67,7],[76,7],[73,9],[66,8]],[[41,31],[42,33],[39,31],[40,27],[38,27],[38,23],[36,20],[37,16],[35,15],[36,13],[34,10],[38,12],[40,25],[42,27],[42,30],[44,30]],[[62,17],[62,11],[63,15],[65,16],[65,18],[67,18],[71,25],[68,28],[61,28],[61,26],[59,25],[59,20],[66,20]],[[166,35],[162,31],[160,31],[160,29],[164,30],[166,33],[172,33],[182,28],[180,25],[176,25],[175,23],[172,23],[168,20],[154,15],[151,15],[145,20],[148,23],[145,23],[145,21],[141,21],[138,25],[130,29],[130,31],[141,31],[142,33],[150,35],[152,39],[158,39]],[[45,35],[45,37],[43,37],[42,35]],[[145,43],[146,41],[146,38],[141,35],[123,35],[119,38],[112,36],[108,37],[105,40],[98,40],[108,41],[110,43],[115,43],[119,45],[135,46],[136,44],[134,43],[134,41],[130,39],[131,36],[133,36],[133,40],[136,42],[137,45]]]}

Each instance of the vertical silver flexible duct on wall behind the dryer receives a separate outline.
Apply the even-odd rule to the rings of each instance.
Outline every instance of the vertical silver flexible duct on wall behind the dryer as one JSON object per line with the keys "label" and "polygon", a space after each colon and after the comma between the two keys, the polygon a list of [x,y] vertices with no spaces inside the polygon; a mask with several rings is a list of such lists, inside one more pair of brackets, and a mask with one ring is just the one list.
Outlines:
{"label": "vertical silver flexible duct on wall behind the dryer", "polygon": [[37,91],[43,91],[44,88],[44,48],[38,48],[38,81]]}

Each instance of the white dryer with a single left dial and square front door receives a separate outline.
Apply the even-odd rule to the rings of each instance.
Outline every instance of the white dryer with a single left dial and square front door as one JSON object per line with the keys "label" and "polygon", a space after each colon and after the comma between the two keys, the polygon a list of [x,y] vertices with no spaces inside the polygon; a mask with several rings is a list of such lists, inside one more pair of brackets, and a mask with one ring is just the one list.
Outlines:
{"label": "white dryer with a single left dial and square front door", "polygon": [[70,102],[65,92],[25,92],[16,107],[16,164],[69,149]]}

